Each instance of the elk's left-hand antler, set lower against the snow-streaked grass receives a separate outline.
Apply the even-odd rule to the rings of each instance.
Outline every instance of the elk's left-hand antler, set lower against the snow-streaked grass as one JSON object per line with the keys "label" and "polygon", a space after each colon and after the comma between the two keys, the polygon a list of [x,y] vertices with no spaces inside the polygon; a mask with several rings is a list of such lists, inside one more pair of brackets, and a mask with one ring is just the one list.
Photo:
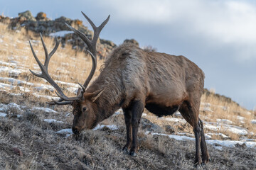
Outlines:
{"label": "elk's left-hand antler, set lower against the snow-streaked grass", "polygon": [[[52,102],[49,102],[49,104],[58,104],[58,105],[63,105],[63,104],[71,104],[72,101],[76,101],[76,100],[80,100],[83,96],[82,96],[82,93],[80,93],[79,96],[76,96],[76,97],[67,97],[65,96],[65,94],[63,93],[63,91],[60,89],[60,86],[58,86],[58,84],[55,83],[55,81],[53,81],[53,79],[50,77],[50,75],[48,74],[48,64],[50,62],[50,57],[53,56],[54,52],[58,49],[58,46],[60,45],[60,40],[58,40],[57,38],[55,38],[56,40],[56,44],[55,44],[55,47],[53,48],[53,50],[50,52],[50,54],[48,54],[48,50],[46,48],[46,45],[43,41],[43,37],[40,33],[40,37],[41,37],[41,41],[42,41],[42,44],[43,44],[43,49],[45,51],[45,54],[46,54],[46,61],[44,64],[42,64],[39,60],[38,60],[38,57],[36,57],[36,53],[35,51],[33,50],[33,47],[31,45],[31,42],[29,41],[29,45],[31,46],[31,51],[33,53],[33,56],[35,57],[36,59],[36,62],[38,63],[38,66],[40,67],[41,69],[41,74],[36,74],[35,72],[33,72],[31,69],[29,69],[29,71],[34,74],[36,77],[41,77],[43,79],[46,79],[46,81],[48,81],[55,89],[56,91],[58,91],[58,93],[56,92],[56,94],[60,97],[60,100],[59,101],[52,101]],[[84,87],[79,84],[81,87],[82,87],[82,91],[85,91]],[[64,102],[63,102],[64,101]]]}

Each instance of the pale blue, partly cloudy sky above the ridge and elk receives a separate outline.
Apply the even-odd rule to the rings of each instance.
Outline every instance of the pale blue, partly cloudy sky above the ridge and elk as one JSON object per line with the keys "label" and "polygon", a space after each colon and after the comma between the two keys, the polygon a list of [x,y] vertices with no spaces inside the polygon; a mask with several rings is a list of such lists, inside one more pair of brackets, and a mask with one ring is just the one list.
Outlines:
{"label": "pale blue, partly cloudy sky above the ridge and elk", "polygon": [[[183,55],[206,74],[205,87],[240,106],[256,106],[256,1],[238,0],[0,0],[0,14],[30,10],[48,18],[80,19],[99,26],[100,38],[117,45],[134,38],[141,47]],[[256,108],[255,108],[256,109]]]}

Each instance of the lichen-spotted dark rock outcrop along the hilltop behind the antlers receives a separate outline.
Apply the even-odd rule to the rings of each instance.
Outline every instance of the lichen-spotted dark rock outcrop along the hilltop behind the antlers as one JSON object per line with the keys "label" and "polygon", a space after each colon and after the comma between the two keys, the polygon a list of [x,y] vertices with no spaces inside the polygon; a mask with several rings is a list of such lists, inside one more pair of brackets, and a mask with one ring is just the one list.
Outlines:
{"label": "lichen-spotted dark rock outcrop along the hilltop behind the antlers", "polygon": [[[84,33],[87,38],[92,39],[93,31],[89,30],[86,26],[82,25],[82,21],[76,19],[72,20],[70,18],[66,18],[61,16],[60,18],[56,18],[54,21],[50,20],[46,17],[46,13],[40,12],[37,14],[36,18],[34,18],[31,14],[31,11],[25,11],[23,13],[18,13],[17,18],[8,18],[1,16],[0,22],[8,23],[9,28],[19,30],[21,28],[25,28],[26,30],[31,30],[35,33],[42,33],[43,35],[49,36],[50,33],[55,33],[62,30],[69,30],[65,23],[68,23],[70,26],[80,30]],[[136,43],[135,40],[131,40]],[[67,34],[61,38],[62,46],[65,47],[65,44],[71,44],[73,49],[82,50],[87,52],[87,45],[85,42],[81,40],[81,38],[76,34]],[[138,44],[138,43],[137,43]],[[101,59],[105,59],[107,55],[113,50],[117,45],[110,40],[101,40],[97,41],[97,57]]]}

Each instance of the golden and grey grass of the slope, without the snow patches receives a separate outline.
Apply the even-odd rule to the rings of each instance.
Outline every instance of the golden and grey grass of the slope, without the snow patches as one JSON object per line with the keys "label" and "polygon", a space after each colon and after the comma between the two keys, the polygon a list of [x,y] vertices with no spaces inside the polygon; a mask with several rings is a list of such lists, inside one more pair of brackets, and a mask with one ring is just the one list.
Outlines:
{"label": "golden and grey grass of the slope, without the snow patches", "polygon": [[[39,40],[33,33],[15,32],[7,30],[6,26],[0,23],[0,35],[4,41],[0,44],[0,61],[16,61],[23,69],[34,68],[36,62],[33,60],[31,50],[28,46],[28,39]],[[53,44],[53,40],[46,38],[46,45]],[[43,48],[41,43],[33,43],[38,56],[43,59]],[[53,47],[48,47],[48,51]],[[72,56],[72,57],[70,57]],[[70,83],[82,82],[90,71],[90,58],[81,52],[75,52],[71,47],[59,48],[50,62],[50,74],[53,79]],[[69,63],[69,64],[61,64]],[[98,69],[100,68],[99,62]],[[38,67],[37,67],[38,68]],[[78,68],[83,68],[78,69]],[[15,69],[15,68],[14,68]],[[63,74],[63,70],[65,72]],[[80,74],[75,74],[75,73]],[[61,73],[61,74],[60,74]],[[96,74],[99,74],[97,71]],[[29,72],[19,75],[10,75],[8,72],[1,72],[1,77],[14,77],[32,83],[45,84],[41,79],[31,77]],[[6,84],[8,82],[5,82]],[[27,86],[28,89],[31,86]],[[67,89],[68,86],[63,85]],[[144,135],[147,130],[143,128],[144,121],[139,129],[139,155],[130,157],[122,152],[125,143],[125,128],[123,115],[114,115],[104,121],[105,124],[114,124],[118,130],[87,130],[80,137],[65,137],[55,132],[64,128],[70,128],[73,115],[70,113],[70,106],[53,107],[58,113],[45,113],[33,111],[33,106],[46,106],[46,98],[36,98],[34,91],[22,92],[20,88],[11,89],[9,92],[0,91],[0,103],[18,103],[27,106],[23,110],[9,109],[6,118],[0,118],[0,169],[193,169],[193,157],[195,152],[193,141],[177,141],[169,137]],[[21,96],[14,96],[10,93]],[[41,90],[37,94],[54,96],[53,91]],[[65,93],[71,93],[65,90]],[[235,125],[255,131],[255,125],[250,120],[255,118],[254,114],[246,114],[245,109],[224,101],[215,95],[204,94],[203,103],[210,103],[210,111],[202,111],[201,118],[207,121],[215,121],[216,118],[228,118],[233,120]],[[220,108],[225,106],[228,109]],[[202,106],[203,108],[204,106]],[[17,118],[16,115],[23,115]],[[150,114],[149,114],[150,115]],[[235,119],[237,115],[245,118],[245,124],[240,124]],[[62,120],[60,123],[46,123],[45,118]],[[167,124],[174,127],[176,132],[192,132],[187,124],[182,126],[177,123],[168,123],[155,117],[148,118],[164,128]],[[207,131],[207,130],[206,130]],[[231,139],[237,140],[239,135],[228,134]],[[248,136],[250,137],[250,136]],[[14,148],[21,150],[18,153]],[[207,165],[208,169],[256,169],[255,149],[247,149],[245,146],[235,148],[223,147],[219,151],[214,146],[208,145],[212,162]],[[205,168],[205,167],[204,167]],[[201,168],[199,168],[201,169]]]}

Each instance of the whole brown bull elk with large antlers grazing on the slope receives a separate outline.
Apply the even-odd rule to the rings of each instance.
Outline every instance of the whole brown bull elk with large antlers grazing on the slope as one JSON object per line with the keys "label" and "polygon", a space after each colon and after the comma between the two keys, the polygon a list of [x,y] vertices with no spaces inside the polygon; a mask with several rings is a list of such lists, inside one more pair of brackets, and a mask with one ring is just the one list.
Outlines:
{"label": "whole brown bull elk with large antlers grazing on the slope", "polygon": [[144,108],[158,116],[172,115],[179,111],[193,127],[196,138],[195,164],[208,162],[210,157],[206,147],[203,122],[198,118],[204,86],[203,71],[186,57],[147,52],[132,43],[123,43],[112,51],[100,75],[87,87],[97,65],[97,39],[110,16],[96,27],[85,13],[82,15],[94,30],[92,40],[80,30],[65,23],[85,42],[92,58],[92,69],[85,83],[79,84],[77,96],[65,96],[62,89],[48,74],[50,57],[57,50],[60,40],[56,38],[55,47],[48,54],[41,35],[46,53],[44,64],[36,57],[30,42],[33,56],[41,68],[41,74],[30,70],[31,73],[46,79],[60,97],[58,101],[53,100],[49,104],[73,106],[72,130],[77,135],[84,129],[95,128],[102,120],[109,118],[117,109],[122,108],[127,129],[127,142],[123,150],[129,151],[132,156],[137,155],[137,132]]}

